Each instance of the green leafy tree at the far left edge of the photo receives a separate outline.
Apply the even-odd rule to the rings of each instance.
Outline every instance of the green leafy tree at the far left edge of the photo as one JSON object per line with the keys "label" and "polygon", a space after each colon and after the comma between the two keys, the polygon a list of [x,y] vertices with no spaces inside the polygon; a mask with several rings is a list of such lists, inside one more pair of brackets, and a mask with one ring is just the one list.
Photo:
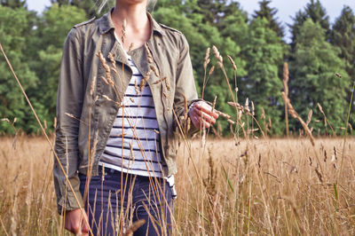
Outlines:
{"label": "green leafy tree at the far left edge of the photo", "polygon": [[[12,62],[12,67],[25,88],[36,88],[37,77],[28,67],[23,51],[27,50],[26,36],[30,24],[28,12],[23,7],[10,8],[0,5],[0,42]],[[0,115],[13,120],[17,126],[28,130],[33,124],[28,106],[13,75],[1,57],[0,64]],[[31,120],[32,119],[32,120]],[[12,132],[11,126],[0,122],[0,132]]]}

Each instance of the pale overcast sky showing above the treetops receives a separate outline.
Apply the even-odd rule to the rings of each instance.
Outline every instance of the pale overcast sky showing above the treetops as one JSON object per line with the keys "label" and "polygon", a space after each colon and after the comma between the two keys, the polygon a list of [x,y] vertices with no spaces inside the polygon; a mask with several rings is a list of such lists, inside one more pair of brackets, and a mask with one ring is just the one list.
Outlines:
{"label": "pale overcast sky showing above the treetops", "polygon": [[[28,0],[27,2],[28,8],[37,12],[42,12],[45,6],[51,5],[50,0]],[[249,15],[258,9],[258,2],[259,0],[239,0],[241,8]],[[278,9],[277,17],[286,25],[286,23],[291,23],[291,17],[295,16],[298,10],[304,9],[304,6],[309,2],[310,0],[272,0],[270,5]],[[355,12],[355,0],[320,0],[320,3],[327,9],[331,23],[342,12],[343,5],[350,6]],[[286,33],[288,33],[288,28]]]}

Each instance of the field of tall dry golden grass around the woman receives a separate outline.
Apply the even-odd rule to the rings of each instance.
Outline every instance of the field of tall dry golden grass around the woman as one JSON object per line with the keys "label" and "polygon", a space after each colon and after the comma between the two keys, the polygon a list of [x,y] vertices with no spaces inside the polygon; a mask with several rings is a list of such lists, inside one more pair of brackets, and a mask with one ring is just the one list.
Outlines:
{"label": "field of tall dry golden grass around the woman", "polygon": [[[353,235],[354,140],[196,139],[191,158],[182,144],[174,234]],[[44,138],[0,138],[1,235],[63,234],[51,166]]]}

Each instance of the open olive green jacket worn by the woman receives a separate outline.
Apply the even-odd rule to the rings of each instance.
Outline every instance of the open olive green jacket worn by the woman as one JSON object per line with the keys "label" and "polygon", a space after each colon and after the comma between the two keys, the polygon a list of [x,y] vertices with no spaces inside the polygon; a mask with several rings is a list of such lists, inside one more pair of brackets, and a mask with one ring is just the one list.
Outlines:
{"label": "open olive green jacket worn by the woman", "polygon": [[[164,176],[170,176],[177,172],[175,117],[184,114],[185,98],[191,103],[197,98],[197,93],[185,36],[158,24],[149,14],[148,17],[152,33],[146,44],[153,57],[151,63],[160,75],[151,73],[147,83],[153,94],[162,158],[167,164],[163,173]],[[106,69],[99,60],[99,52],[110,67],[112,63],[108,56],[111,54],[114,58],[117,75],[111,73],[111,78],[115,89],[102,79],[106,78]],[[145,76],[152,66],[148,63],[145,47],[130,51],[129,54]],[[100,156],[132,75],[129,62],[123,55],[122,47],[114,37],[110,13],[98,20],[76,25],[67,35],[60,64],[55,153],[67,172],[74,192],[68,187],[55,158],[53,176],[59,212],[64,207],[66,210],[83,207],[79,172],[98,175]],[[167,78],[166,82],[157,83],[164,77]]]}

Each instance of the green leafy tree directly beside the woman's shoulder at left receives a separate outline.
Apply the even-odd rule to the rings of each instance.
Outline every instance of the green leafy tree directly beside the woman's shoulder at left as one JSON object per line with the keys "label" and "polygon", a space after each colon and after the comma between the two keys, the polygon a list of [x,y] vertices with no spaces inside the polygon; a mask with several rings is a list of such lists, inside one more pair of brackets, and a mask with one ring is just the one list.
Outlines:
{"label": "green leafy tree directly beside the woman's shoulder at left", "polygon": [[32,60],[30,65],[36,71],[39,82],[37,88],[29,90],[28,93],[38,104],[43,120],[49,127],[52,126],[57,105],[57,86],[63,44],[69,30],[85,19],[85,12],[82,9],[73,5],[53,4],[43,12],[31,37],[30,58]]}

